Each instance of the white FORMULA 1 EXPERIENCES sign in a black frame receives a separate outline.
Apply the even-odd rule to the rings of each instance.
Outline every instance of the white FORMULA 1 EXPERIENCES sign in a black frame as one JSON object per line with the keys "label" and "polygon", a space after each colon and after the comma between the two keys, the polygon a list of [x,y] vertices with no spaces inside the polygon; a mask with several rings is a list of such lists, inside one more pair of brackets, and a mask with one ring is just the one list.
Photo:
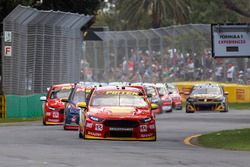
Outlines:
{"label": "white FORMULA 1 EXPERIENCES sign in a black frame", "polygon": [[250,25],[212,24],[212,56],[250,57]]}

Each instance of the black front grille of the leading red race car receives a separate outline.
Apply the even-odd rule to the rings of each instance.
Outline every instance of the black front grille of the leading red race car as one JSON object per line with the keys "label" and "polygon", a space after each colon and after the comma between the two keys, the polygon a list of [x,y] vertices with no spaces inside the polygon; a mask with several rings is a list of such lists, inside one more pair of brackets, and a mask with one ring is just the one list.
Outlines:
{"label": "black front grille of the leading red race car", "polygon": [[106,120],[104,122],[104,125],[108,127],[135,128],[139,125],[139,123],[137,121],[132,120]]}

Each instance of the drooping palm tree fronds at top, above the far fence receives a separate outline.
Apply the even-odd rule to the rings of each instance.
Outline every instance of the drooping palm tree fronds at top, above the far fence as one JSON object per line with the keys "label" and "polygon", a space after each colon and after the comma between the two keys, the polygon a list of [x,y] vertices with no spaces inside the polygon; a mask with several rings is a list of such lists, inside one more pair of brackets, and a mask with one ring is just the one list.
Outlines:
{"label": "drooping palm tree fronds at top, above the far fence", "polygon": [[188,0],[117,0],[120,17],[127,20],[132,28],[142,24],[141,20],[151,20],[151,28],[159,28],[167,20],[174,24],[187,23]]}

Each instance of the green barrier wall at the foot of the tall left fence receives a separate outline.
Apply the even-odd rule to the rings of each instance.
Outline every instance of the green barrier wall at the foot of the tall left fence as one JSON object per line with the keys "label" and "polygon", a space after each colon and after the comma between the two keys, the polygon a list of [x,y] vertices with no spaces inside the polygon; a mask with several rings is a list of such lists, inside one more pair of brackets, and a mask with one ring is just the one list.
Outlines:
{"label": "green barrier wall at the foot of the tall left fence", "polygon": [[43,94],[30,96],[6,95],[6,119],[42,116],[41,96]]}

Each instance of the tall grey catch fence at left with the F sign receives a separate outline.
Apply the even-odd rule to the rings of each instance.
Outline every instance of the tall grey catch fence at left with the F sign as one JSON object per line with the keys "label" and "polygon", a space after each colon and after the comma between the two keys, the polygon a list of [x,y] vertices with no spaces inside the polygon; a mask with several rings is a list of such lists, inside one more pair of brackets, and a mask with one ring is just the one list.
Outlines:
{"label": "tall grey catch fence at left with the F sign", "polygon": [[4,94],[45,93],[53,84],[80,81],[81,28],[92,18],[16,7],[3,21]]}

